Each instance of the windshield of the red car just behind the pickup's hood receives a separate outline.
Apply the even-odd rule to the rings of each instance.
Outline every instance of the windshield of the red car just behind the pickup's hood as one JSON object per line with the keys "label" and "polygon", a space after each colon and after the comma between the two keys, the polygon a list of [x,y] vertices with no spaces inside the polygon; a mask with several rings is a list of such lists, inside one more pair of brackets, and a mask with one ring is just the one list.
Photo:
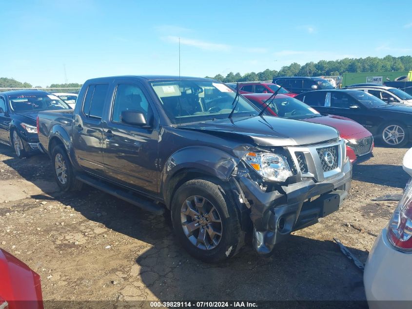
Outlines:
{"label": "windshield of the red car just behind the pickup's hood", "polygon": [[[266,103],[266,101],[263,101],[263,103]],[[269,104],[269,108],[271,108],[277,116],[284,118],[306,119],[312,116],[320,116],[312,107],[291,97],[275,98],[275,100]]]}

